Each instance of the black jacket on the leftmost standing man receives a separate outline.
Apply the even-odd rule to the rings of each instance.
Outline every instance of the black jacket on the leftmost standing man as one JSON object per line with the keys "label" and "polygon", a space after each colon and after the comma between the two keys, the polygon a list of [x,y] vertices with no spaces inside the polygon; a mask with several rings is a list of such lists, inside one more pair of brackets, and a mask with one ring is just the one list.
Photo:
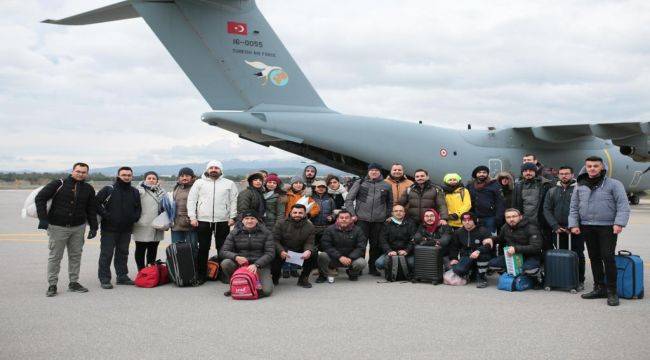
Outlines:
{"label": "black jacket on the leftmost standing man", "polygon": [[[57,189],[61,188],[58,192]],[[47,212],[47,201],[52,199],[52,207]],[[88,222],[91,230],[97,230],[97,205],[95,189],[84,181],[68,176],[54,180],[36,195],[38,218],[57,226],[79,226]]]}

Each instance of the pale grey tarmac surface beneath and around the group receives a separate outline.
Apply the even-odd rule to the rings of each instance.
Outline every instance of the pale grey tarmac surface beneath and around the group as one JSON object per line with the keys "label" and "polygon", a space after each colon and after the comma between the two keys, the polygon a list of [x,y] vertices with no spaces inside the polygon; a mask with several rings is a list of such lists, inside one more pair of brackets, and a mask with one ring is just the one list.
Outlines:
{"label": "pale grey tarmac surface beneath and around the group", "polygon": [[[270,298],[248,302],[213,282],[102,290],[99,243],[87,240],[80,282],[90,292],[66,292],[66,255],[59,294],[46,298],[47,238],[19,215],[28,194],[0,191],[0,359],[650,358],[648,300],[613,308],[563,291],[509,293],[496,289],[496,276],[487,289],[368,275],[302,289],[281,279]],[[649,225],[643,201],[618,249],[650,259]],[[134,278],[133,248],[129,269]],[[589,266],[587,274],[590,290]]]}

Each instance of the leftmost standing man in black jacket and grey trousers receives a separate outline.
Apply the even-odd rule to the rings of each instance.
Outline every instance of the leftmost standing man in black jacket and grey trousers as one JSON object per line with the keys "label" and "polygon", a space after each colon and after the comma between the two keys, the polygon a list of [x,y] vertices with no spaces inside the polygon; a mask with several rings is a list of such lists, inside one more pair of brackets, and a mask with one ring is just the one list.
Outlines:
{"label": "leftmost standing man in black jacket and grey trousers", "polygon": [[[68,248],[69,291],[87,292],[79,284],[81,252],[84,244],[86,223],[90,226],[88,239],[97,235],[97,214],[95,189],[85,182],[88,177],[88,165],[76,163],[72,173],[66,179],[54,180],[36,195],[38,228],[47,230],[49,236],[50,256],[47,262],[47,280],[49,287],[46,296],[56,295],[59,280],[61,258]],[[50,210],[47,201],[52,200]]]}

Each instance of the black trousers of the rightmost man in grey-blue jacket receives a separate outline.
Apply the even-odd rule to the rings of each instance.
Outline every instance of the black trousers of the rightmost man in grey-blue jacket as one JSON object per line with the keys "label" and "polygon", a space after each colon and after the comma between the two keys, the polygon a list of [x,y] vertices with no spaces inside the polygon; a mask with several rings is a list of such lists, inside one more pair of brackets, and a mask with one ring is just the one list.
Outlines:
{"label": "black trousers of the rightmost man in grey-blue jacket", "polygon": [[[616,240],[612,226],[580,226],[582,236],[587,244],[587,252],[591,262],[591,273],[594,276],[594,285],[605,287],[610,292],[616,293]],[[605,283],[607,275],[607,283]]]}

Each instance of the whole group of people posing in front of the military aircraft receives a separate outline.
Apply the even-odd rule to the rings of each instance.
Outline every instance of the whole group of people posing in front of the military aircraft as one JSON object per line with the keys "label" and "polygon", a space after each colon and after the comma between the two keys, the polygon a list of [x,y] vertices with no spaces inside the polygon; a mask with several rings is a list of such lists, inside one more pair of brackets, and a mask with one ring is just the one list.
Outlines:
{"label": "whole group of people posing in front of the military aircraft", "polygon": [[[57,293],[66,247],[69,290],[88,291],[78,282],[86,224],[89,239],[101,227],[101,287],[113,287],[113,258],[116,284],[132,285],[130,240],[136,244],[138,269],[154,262],[164,232],[152,221],[168,202],[175,208],[171,241],[191,244],[197,286],[206,281],[214,238],[222,280],[247,266],[258,274],[262,296],[271,295],[280,278],[291,276],[298,278],[298,286],[312,287],[309,276],[315,268],[316,283],[334,282],[339,269],[351,281],[366,267],[368,274],[381,276],[387,259],[398,255],[413,270],[415,245],[439,246],[445,268],[475,279],[478,288],[487,287],[489,272],[505,271],[506,256],[521,254],[524,273],[540,287],[544,252],[557,237],[561,247],[570,241],[579,255],[581,288],[587,244],[594,288],[582,297],[607,298],[609,305],[618,305],[614,251],[629,218],[629,203],[623,185],[606,176],[601,158],[589,157],[584,165],[577,178],[571,167],[563,166],[558,178],[549,180],[535,156],[527,154],[517,180],[506,172],[492,179],[489,168],[478,166],[467,185],[456,173],[446,174],[438,185],[424,169],[411,180],[404,166],[394,163],[384,178],[384,168],[371,163],[367,174],[347,188],[335,175],[318,178],[316,167],[309,165],[286,186],[277,174],[253,173],[239,191],[223,176],[222,163],[211,161],[200,177],[190,168],[180,169],[171,194],[153,171],[133,187],[132,169],[122,167],[115,183],[95,195],[85,182],[88,165],[77,163],[68,178],[52,181],[36,196],[39,229],[46,229],[50,239],[46,295]],[[292,256],[301,258],[301,268],[296,259],[288,261]]]}

